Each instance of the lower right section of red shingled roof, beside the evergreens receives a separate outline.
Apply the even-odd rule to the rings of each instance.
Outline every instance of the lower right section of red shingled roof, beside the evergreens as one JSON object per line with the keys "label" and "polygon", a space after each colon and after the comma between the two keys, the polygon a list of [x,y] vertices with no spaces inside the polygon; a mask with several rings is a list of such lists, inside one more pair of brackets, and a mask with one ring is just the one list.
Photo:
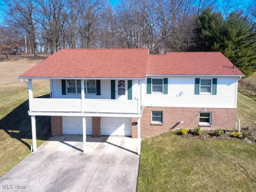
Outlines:
{"label": "lower right section of red shingled roof, beside the evergreens", "polygon": [[243,75],[221,52],[149,55],[148,75]]}

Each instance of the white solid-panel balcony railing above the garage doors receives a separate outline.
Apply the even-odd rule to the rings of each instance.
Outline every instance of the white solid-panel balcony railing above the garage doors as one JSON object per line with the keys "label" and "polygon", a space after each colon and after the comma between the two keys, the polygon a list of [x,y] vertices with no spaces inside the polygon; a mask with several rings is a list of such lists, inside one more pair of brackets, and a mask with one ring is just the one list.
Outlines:
{"label": "white solid-panel balcony railing above the garage doors", "polygon": [[137,100],[33,98],[31,112],[140,113]]}

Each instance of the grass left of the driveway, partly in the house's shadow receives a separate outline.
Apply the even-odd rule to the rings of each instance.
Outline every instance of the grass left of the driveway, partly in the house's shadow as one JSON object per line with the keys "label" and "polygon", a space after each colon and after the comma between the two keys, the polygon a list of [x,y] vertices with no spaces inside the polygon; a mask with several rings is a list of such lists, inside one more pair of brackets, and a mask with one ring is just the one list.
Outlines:
{"label": "grass left of the driveway, partly in the house's shadow", "polygon": [[[46,58],[46,56],[42,56]],[[10,56],[0,62],[0,178],[31,153],[31,121],[28,116],[28,85],[16,77],[41,59]],[[48,80],[33,80],[34,97],[49,93]],[[50,117],[36,116],[37,145],[50,136]]]}

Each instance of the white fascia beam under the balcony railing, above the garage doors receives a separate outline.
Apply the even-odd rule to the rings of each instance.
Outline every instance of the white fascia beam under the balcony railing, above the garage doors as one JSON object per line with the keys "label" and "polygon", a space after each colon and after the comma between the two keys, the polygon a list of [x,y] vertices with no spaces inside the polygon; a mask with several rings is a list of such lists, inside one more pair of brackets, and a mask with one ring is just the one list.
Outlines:
{"label": "white fascia beam under the balcony railing, above the garage doors", "polygon": [[135,117],[141,118],[142,114],[122,114],[122,113],[80,113],[80,112],[30,112],[28,115],[34,116],[88,116],[88,117]]}

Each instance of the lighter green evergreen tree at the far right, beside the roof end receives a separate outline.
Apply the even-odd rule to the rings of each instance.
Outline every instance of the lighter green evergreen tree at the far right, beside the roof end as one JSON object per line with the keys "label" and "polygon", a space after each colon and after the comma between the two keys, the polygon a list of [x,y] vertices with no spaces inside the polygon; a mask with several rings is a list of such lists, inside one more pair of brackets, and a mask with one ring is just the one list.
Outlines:
{"label": "lighter green evergreen tree at the far right, beside the roof end", "polygon": [[256,71],[256,33],[244,17],[232,12],[225,21],[223,54],[246,75]]}

